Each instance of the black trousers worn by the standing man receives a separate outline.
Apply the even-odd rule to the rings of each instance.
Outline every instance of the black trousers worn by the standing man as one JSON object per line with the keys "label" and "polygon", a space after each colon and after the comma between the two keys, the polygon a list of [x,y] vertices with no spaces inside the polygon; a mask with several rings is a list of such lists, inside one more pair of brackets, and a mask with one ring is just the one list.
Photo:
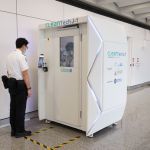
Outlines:
{"label": "black trousers worn by the standing man", "polygon": [[25,130],[27,88],[23,80],[9,79],[10,125],[12,132]]}

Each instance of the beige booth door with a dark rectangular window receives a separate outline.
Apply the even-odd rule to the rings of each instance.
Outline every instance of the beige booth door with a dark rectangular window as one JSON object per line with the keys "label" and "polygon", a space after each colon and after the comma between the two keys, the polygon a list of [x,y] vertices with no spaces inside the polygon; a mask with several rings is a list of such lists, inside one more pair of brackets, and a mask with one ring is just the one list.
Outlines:
{"label": "beige booth door with a dark rectangular window", "polygon": [[81,111],[81,50],[79,28],[54,32],[55,120],[80,126]]}

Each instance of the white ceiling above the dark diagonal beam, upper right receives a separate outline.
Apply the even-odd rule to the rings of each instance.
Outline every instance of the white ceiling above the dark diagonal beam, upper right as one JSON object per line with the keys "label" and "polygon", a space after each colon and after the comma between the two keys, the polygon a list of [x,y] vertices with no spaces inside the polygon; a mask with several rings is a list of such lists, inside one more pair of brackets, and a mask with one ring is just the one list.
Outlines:
{"label": "white ceiling above the dark diagonal beam, upper right", "polygon": [[150,0],[82,0],[150,25]]}

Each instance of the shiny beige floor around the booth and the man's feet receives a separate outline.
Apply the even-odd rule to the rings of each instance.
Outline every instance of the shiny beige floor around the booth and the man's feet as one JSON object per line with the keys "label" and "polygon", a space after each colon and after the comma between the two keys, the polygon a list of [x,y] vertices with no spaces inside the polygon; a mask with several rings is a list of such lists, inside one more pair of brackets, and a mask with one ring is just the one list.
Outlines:
{"label": "shiny beige floor around the booth and the man's feet", "polygon": [[[38,119],[28,121],[32,131],[53,126],[31,138],[47,146],[57,146],[76,136],[79,139],[58,150],[150,150],[150,87],[128,92],[128,102],[123,120],[114,127],[108,127],[88,138],[85,133],[61,126],[44,124]],[[10,137],[10,127],[0,129],[0,150],[40,150],[39,145],[24,138]]]}

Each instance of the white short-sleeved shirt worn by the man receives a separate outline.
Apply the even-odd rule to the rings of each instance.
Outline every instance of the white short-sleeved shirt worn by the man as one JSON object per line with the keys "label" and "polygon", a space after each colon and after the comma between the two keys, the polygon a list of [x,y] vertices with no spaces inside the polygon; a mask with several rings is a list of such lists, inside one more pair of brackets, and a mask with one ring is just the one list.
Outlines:
{"label": "white short-sleeved shirt worn by the man", "polygon": [[19,49],[16,49],[8,55],[6,66],[8,77],[17,80],[23,80],[22,71],[29,69],[26,57]]}

